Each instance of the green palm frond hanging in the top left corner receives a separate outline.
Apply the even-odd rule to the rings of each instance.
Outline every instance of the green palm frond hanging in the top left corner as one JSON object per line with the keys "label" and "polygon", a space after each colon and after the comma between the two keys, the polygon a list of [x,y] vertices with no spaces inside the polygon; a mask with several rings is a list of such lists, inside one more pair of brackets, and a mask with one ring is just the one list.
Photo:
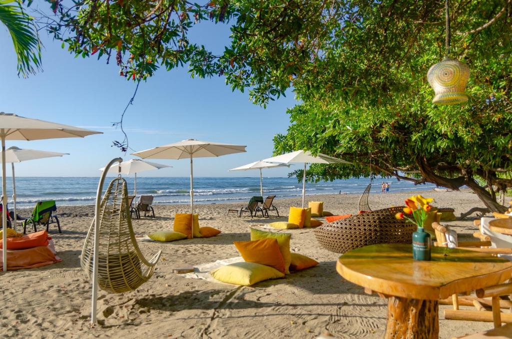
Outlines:
{"label": "green palm frond hanging in the top left corner", "polygon": [[18,58],[18,76],[26,78],[41,66],[41,43],[33,18],[18,0],[0,0],[0,22],[7,27]]}

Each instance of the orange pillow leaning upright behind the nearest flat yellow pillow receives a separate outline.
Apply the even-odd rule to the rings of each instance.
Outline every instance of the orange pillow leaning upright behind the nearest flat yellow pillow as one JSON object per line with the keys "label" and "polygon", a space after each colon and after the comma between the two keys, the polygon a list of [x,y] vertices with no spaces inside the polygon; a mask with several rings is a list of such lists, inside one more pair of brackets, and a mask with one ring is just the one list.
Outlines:
{"label": "orange pillow leaning upright behind the nearest flat yellow pillow", "polygon": [[285,260],[276,239],[233,241],[233,243],[245,261],[270,266],[285,273]]}

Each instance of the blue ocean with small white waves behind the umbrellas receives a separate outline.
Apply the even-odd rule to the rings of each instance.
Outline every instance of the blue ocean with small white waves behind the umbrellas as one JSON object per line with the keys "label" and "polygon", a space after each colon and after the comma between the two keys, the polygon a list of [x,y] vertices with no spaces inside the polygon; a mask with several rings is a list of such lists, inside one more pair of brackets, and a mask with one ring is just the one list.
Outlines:
{"label": "blue ocean with small white waves behind the umbrellas", "polygon": [[[134,178],[125,177],[129,194],[133,193]],[[55,200],[57,206],[92,205],[98,186],[97,177],[16,177],[16,207],[32,207],[41,200]],[[112,177],[105,180],[106,186]],[[396,179],[373,180],[372,192],[380,192],[382,181],[390,183],[391,191],[425,190],[433,185],[414,186]],[[306,194],[362,193],[370,180],[365,178],[307,183]],[[155,197],[155,204],[187,204],[190,201],[188,177],[137,177],[137,195]],[[7,177],[9,203],[12,204],[12,179]],[[302,183],[296,178],[264,177],[263,193],[277,198],[302,195]],[[260,195],[259,177],[195,177],[194,201],[197,204],[239,202]],[[11,207],[12,208],[12,207]]]}

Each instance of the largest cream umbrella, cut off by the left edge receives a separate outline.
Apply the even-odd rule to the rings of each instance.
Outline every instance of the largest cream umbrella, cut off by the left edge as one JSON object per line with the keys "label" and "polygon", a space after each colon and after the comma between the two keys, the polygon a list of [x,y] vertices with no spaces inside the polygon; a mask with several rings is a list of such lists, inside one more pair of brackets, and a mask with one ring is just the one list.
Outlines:
{"label": "largest cream umbrella, cut off by the left edge", "polygon": [[[6,186],[6,140],[41,140],[57,138],[83,138],[91,134],[99,134],[88,129],[73,127],[69,125],[56,124],[53,122],[30,119],[15,114],[0,112],[0,138],[2,139],[2,204],[7,206]],[[2,224],[7,228],[7,209],[2,212]],[[7,232],[2,232],[3,243],[6,244]],[[7,271],[7,246],[3,246],[4,272]]]}

